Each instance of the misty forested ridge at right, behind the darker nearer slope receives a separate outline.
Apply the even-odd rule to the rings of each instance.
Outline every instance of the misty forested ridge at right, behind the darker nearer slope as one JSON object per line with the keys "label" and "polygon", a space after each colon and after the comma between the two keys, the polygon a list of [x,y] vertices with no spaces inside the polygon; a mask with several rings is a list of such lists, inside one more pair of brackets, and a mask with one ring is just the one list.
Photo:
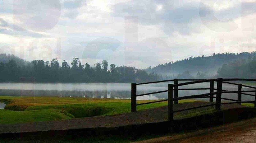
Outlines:
{"label": "misty forested ridge at right, behind the darker nearer slope", "polygon": [[236,60],[248,60],[256,56],[256,52],[242,52],[242,53],[218,53],[212,56],[198,56],[189,57],[189,59],[179,60],[174,63],[165,63],[157,65],[156,67],[149,67],[146,69],[148,72],[156,72],[160,75],[177,76],[178,74],[189,71],[190,74],[206,73],[207,75],[216,75],[218,69],[225,63]]}

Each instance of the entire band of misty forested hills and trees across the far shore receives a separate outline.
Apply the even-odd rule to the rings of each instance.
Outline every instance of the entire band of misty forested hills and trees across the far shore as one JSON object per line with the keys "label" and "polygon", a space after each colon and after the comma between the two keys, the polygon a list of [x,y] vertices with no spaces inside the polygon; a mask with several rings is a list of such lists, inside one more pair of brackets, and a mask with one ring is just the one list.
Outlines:
{"label": "entire band of misty forested hills and trees across the far shore", "polygon": [[[69,65],[65,60],[60,63],[57,59],[28,62],[14,55],[0,54],[0,82],[19,82],[20,78],[33,77],[35,82],[138,83],[173,78],[212,78],[217,75],[218,69],[219,77],[236,77],[238,74],[245,77],[246,74],[255,75],[251,67],[255,66],[255,61],[256,52],[214,53],[212,56],[189,57],[153,68],[136,69],[109,65],[106,60],[91,66],[89,63],[83,65],[75,57]],[[237,65],[240,65],[239,69]]]}

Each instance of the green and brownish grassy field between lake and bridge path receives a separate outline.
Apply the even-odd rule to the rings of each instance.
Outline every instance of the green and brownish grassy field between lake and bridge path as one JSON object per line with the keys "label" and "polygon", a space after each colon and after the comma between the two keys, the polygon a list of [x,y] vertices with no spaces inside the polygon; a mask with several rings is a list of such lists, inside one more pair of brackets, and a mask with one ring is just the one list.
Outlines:
{"label": "green and brownish grassy field between lake and bridge path", "polygon": [[[130,112],[130,99],[106,98],[64,98],[64,97],[15,97],[0,96],[0,102],[6,103],[0,110],[0,124],[24,123],[48,120],[83,118],[89,116],[116,115]],[[154,100],[138,100],[138,103]],[[196,100],[181,100],[193,102]],[[137,110],[166,106],[167,102],[145,104]]]}

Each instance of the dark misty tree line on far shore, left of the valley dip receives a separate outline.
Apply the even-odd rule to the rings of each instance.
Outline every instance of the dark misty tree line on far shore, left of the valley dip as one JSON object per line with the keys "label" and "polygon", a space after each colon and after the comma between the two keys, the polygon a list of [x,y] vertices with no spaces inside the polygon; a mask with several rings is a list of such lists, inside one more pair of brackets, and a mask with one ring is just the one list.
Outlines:
{"label": "dark misty tree line on far shore, left of the valley dip", "polygon": [[[20,62],[19,62],[20,63]],[[0,63],[0,82],[20,82],[20,78],[33,77],[35,82],[150,82],[158,80],[154,72],[144,69],[110,64],[103,60],[91,66],[82,64],[74,57],[71,65],[65,60],[51,61],[33,60],[25,64],[17,64],[15,59]]]}

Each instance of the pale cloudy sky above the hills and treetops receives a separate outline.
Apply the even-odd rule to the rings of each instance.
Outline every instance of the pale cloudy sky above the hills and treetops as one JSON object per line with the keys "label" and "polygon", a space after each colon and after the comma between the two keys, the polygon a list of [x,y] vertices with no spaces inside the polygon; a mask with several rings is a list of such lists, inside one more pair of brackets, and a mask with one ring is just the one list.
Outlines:
{"label": "pale cloudy sky above the hills and treetops", "polygon": [[0,53],[154,67],[256,51],[255,0],[0,0]]}

